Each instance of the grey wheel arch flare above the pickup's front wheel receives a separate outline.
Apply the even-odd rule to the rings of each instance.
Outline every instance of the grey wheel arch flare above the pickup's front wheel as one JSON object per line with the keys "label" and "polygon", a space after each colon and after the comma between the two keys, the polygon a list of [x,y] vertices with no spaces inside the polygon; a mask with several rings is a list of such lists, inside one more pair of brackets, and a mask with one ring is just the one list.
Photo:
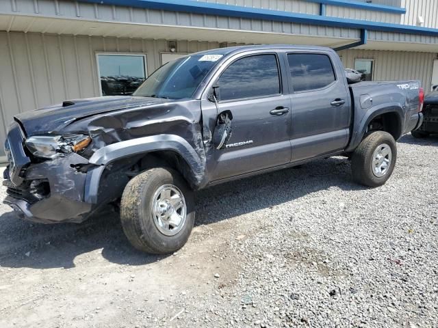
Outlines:
{"label": "grey wheel arch flare above the pickup's front wheel", "polygon": [[203,183],[205,178],[205,154],[203,150],[196,152],[188,141],[178,135],[153,135],[112,143],[94,152],[89,163],[97,165],[97,167],[87,173],[86,202],[97,202],[101,175],[108,164],[119,159],[159,150],[177,152],[188,163],[194,181],[197,184]]}

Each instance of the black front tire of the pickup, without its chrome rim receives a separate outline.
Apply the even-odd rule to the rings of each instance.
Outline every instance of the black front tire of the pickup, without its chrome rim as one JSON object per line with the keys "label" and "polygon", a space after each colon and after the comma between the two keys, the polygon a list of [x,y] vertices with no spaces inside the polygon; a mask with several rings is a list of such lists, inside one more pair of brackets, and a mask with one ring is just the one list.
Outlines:
{"label": "black front tire of the pickup, without its chrome rim", "polygon": [[[185,200],[185,223],[174,236],[160,232],[153,219],[153,196],[165,184],[177,187]],[[179,173],[169,168],[149,169],[134,177],[125,187],[120,202],[120,219],[129,242],[151,254],[169,254],[183,247],[192,232],[194,215],[193,191]]]}

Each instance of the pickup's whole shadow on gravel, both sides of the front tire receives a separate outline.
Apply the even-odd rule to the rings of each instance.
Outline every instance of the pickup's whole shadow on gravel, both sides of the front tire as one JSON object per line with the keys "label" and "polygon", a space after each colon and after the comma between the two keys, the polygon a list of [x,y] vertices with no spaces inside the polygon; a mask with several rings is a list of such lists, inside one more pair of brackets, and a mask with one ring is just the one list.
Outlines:
{"label": "pickup's whole shadow on gravel, both sides of the front tire", "polygon": [[[302,167],[228,182],[196,193],[195,226],[215,223],[296,200],[329,188],[360,190],[344,158],[314,161]],[[0,266],[34,269],[72,268],[75,259],[102,249],[101,256],[117,264],[144,265],[166,258],[133,249],[123,234],[118,213],[105,208],[81,224],[44,225],[18,219],[12,212],[0,216]]]}

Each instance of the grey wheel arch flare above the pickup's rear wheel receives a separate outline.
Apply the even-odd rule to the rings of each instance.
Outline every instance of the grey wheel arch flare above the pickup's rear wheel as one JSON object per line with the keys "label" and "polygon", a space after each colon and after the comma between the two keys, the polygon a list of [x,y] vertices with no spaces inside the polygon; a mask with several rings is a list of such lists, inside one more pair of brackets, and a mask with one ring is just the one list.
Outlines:
{"label": "grey wheel arch flare above the pickup's rear wheel", "polygon": [[371,107],[363,114],[362,119],[359,121],[359,123],[354,124],[350,145],[346,149],[346,152],[355,150],[355,148],[359,146],[359,143],[361,143],[363,136],[367,131],[368,124],[370,124],[372,119],[376,118],[376,116],[378,115],[382,115],[385,113],[396,113],[398,117],[398,124],[400,125],[400,131],[402,131],[402,118],[404,117],[404,109],[399,102],[393,102],[389,104],[386,103],[380,106]]}

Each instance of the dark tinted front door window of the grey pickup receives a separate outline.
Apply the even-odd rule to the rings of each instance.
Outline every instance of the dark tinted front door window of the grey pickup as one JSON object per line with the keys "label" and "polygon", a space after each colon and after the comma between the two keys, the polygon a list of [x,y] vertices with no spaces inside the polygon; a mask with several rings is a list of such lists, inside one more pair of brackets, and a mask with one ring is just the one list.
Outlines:
{"label": "dark tinted front door window of the grey pickup", "polygon": [[237,59],[220,76],[220,100],[259,98],[280,94],[276,55]]}

